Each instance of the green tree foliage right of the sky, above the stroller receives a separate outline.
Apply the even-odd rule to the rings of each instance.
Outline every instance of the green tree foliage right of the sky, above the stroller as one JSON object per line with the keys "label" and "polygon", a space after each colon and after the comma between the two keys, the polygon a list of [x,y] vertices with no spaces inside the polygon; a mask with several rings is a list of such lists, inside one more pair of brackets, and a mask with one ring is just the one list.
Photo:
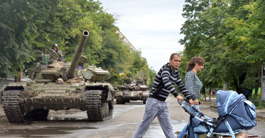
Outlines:
{"label": "green tree foliage right of the sky, above the stroller", "polygon": [[[261,82],[264,65],[264,1],[186,0],[182,14],[187,21],[179,42],[184,56],[202,56],[206,63],[199,73],[206,88],[229,89],[238,93],[252,90]],[[184,58],[185,59],[185,58]],[[256,80],[256,81],[255,81]]]}

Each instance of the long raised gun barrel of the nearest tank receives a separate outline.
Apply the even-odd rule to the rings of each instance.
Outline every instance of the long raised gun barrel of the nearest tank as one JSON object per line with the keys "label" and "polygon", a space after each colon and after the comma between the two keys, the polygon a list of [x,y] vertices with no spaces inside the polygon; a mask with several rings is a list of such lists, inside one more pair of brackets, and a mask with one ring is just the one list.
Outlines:
{"label": "long raised gun barrel of the nearest tank", "polygon": [[68,79],[71,79],[71,78],[74,78],[75,77],[75,70],[77,68],[77,64],[78,64],[78,61],[84,51],[84,47],[85,47],[85,43],[87,41],[87,37],[89,35],[89,32],[88,31],[83,31],[83,34],[82,34],[82,37],[80,39],[80,42],[78,44],[78,46],[76,47],[75,49],[75,52],[74,52],[74,58],[72,60],[72,63],[69,67],[69,70],[67,71],[66,73],[66,77]]}

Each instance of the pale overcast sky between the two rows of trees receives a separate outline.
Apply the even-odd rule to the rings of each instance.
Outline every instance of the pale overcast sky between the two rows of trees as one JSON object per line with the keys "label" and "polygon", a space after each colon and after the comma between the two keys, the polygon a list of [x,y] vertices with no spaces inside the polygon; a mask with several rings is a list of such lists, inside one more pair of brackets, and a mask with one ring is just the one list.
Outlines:
{"label": "pale overcast sky between the two rows of trees", "polygon": [[183,51],[178,41],[185,0],[99,0],[107,13],[120,15],[116,26],[136,50],[142,51],[149,68],[158,72],[170,55]]}

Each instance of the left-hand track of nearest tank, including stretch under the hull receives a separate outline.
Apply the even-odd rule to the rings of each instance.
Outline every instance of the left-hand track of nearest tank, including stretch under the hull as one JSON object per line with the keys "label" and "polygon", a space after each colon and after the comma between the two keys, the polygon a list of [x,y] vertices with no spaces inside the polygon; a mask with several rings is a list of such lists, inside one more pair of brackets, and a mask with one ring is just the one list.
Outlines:
{"label": "left-hand track of nearest tank, including stretch under the hull", "polygon": [[3,93],[2,104],[9,122],[22,123],[30,120],[47,120],[49,110],[34,109],[25,113],[18,101],[20,92],[21,90],[8,90]]}

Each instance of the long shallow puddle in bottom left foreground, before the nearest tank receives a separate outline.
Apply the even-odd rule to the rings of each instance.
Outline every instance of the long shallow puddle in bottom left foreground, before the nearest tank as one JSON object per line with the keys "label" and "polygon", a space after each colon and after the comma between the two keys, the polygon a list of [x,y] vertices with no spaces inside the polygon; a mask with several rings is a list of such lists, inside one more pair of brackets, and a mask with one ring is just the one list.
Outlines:
{"label": "long shallow puddle in bottom left foreground, before the nearest tank", "polygon": [[[22,135],[21,137],[36,137],[36,135],[69,134],[68,130],[97,129],[96,127],[44,127],[40,129],[6,129],[0,134]],[[31,136],[34,135],[34,136]],[[37,136],[45,137],[45,136]]]}

